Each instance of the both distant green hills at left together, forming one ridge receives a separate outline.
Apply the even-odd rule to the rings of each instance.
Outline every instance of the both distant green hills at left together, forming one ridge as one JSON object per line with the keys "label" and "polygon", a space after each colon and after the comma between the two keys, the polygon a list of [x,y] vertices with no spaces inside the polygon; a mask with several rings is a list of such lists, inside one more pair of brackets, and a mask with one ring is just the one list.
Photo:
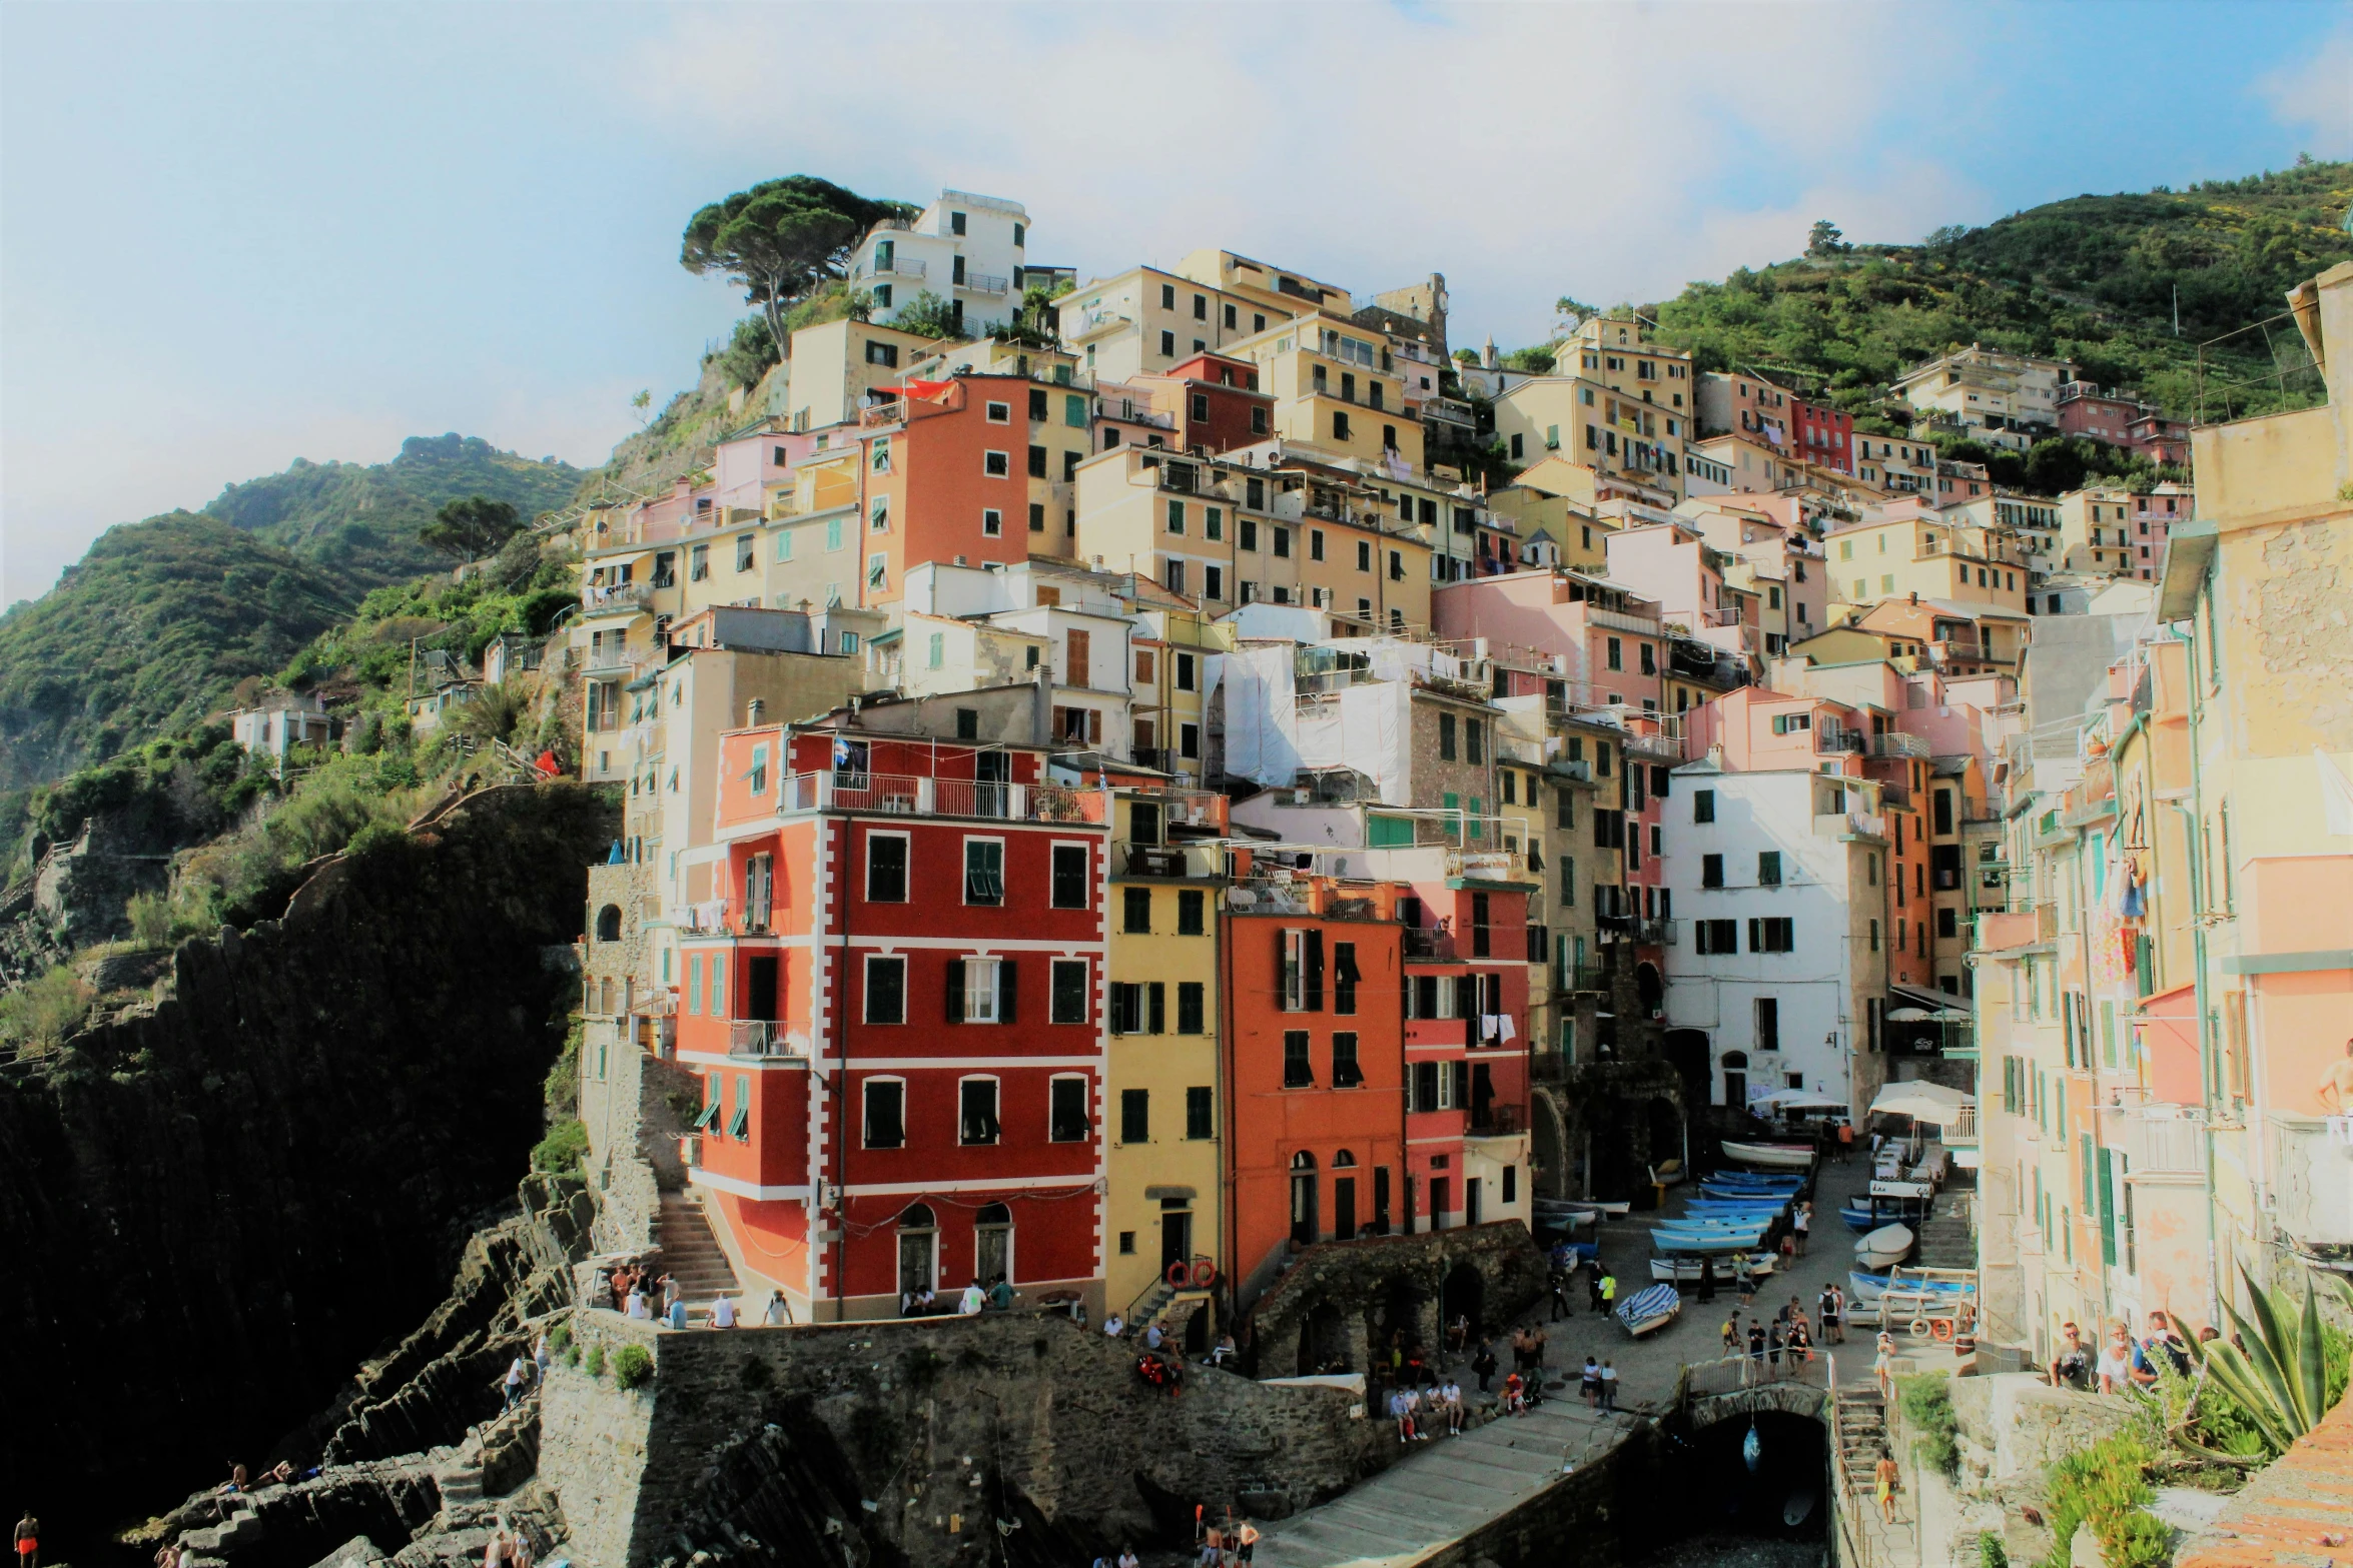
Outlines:
{"label": "both distant green hills at left together, forming one ridge", "polygon": [[388,463],[296,461],[202,512],[101,534],[56,588],[0,616],[0,790],[47,783],[193,724],[275,675],[369,588],[447,569],[416,529],[461,496],[525,517],[581,470],[471,435],[412,435]]}

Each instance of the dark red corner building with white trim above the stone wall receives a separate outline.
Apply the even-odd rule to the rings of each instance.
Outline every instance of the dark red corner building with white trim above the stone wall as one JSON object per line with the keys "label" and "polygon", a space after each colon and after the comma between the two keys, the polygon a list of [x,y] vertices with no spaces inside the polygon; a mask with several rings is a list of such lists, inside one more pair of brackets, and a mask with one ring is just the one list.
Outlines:
{"label": "dark red corner building with white trim above the stone wall", "polygon": [[1042,748],[720,738],[678,933],[689,1180],[800,1321],[1002,1274],[1101,1312],[1104,825]]}

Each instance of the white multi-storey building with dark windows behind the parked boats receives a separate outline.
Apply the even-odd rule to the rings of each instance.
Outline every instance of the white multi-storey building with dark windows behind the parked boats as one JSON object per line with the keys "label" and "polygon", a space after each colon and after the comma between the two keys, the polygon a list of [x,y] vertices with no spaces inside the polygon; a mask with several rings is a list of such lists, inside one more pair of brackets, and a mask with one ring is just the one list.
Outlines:
{"label": "white multi-storey building with dark windows behind the parked boats", "polygon": [[1800,1088],[1857,1124],[1887,1077],[1885,820],[1878,785],[1809,771],[1675,769],[1661,905],[1668,1044],[1708,1039],[1720,1105]]}

